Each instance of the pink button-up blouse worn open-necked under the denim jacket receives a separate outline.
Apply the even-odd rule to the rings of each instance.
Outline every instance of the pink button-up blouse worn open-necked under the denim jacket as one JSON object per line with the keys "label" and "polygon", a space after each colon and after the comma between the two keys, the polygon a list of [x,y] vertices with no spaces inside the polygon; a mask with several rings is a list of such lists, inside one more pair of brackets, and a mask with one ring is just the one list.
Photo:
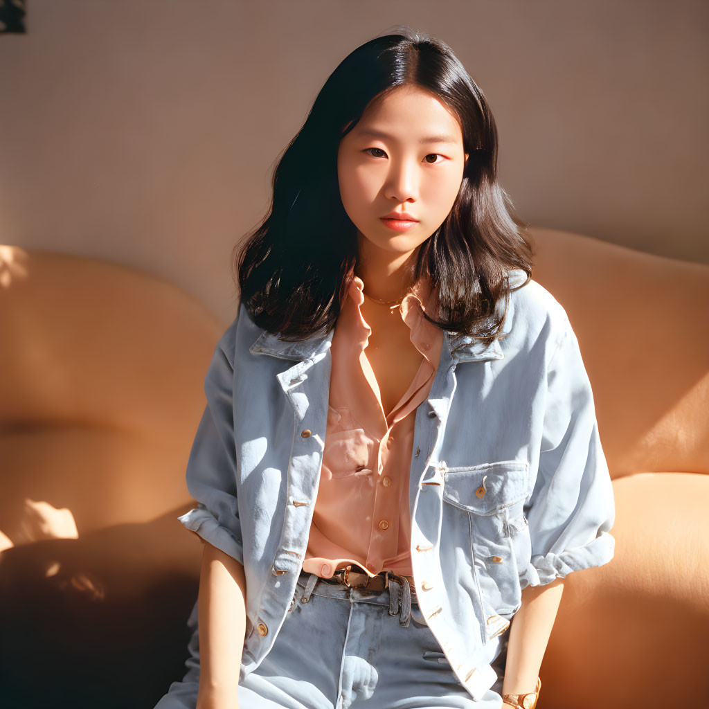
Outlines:
{"label": "pink button-up blouse worn open-necked under the denim jacket", "polygon": [[[411,385],[385,417],[379,385],[365,350],[372,328],[362,317],[364,281],[354,277],[335,324],[323,468],[303,571],[329,578],[358,564],[412,575],[409,469],[416,407],[435,379],[444,332],[423,317],[435,314],[428,279],[414,284],[391,317],[411,329],[423,354]],[[392,369],[396,362],[391,362]]]}

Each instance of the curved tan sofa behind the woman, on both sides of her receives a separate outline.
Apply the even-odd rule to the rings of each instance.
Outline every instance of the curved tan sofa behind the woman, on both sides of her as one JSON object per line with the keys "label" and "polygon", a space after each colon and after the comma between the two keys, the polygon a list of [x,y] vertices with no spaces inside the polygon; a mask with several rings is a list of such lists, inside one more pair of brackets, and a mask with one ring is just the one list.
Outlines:
{"label": "curved tan sofa behind the woman, on both sides of her", "polygon": [[[615,559],[569,576],[539,707],[701,706],[709,267],[534,234],[616,496]],[[152,709],[184,671],[201,545],[177,515],[228,323],[149,274],[14,247],[0,247],[0,323],[3,706]]]}

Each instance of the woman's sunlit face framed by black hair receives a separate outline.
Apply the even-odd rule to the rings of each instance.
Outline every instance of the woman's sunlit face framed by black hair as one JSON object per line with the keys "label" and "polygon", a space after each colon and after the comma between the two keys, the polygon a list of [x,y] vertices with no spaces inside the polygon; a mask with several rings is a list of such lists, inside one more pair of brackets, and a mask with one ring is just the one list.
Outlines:
{"label": "woman's sunlit face framed by black hair", "polygon": [[413,252],[450,213],[467,157],[457,118],[427,91],[400,86],[373,101],[337,152],[342,205],[359,238],[390,256]]}

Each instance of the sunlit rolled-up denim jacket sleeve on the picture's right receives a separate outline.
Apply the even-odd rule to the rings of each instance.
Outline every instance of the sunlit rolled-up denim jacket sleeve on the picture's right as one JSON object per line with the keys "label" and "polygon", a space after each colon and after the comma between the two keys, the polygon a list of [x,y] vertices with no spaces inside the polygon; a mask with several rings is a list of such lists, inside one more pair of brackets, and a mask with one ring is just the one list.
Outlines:
{"label": "sunlit rolled-up denim jacket sleeve on the picture's right", "polygon": [[591,382],[568,318],[547,368],[539,470],[525,513],[532,556],[520,569],[522,588],[613,559],[613,486]]}

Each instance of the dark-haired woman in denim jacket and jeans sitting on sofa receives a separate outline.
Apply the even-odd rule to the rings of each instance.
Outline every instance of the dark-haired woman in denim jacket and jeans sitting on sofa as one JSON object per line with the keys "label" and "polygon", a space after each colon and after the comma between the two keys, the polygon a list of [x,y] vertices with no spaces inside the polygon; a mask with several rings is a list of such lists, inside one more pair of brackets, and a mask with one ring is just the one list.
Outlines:
{"label": "dark-haired woman in denim jacket and jeans sitting on sofa", "polygon": [[374,38],[318,94],[206,375],[191,657],[156,709],[535,705],[613,491],[496,161],[435,38]]}

